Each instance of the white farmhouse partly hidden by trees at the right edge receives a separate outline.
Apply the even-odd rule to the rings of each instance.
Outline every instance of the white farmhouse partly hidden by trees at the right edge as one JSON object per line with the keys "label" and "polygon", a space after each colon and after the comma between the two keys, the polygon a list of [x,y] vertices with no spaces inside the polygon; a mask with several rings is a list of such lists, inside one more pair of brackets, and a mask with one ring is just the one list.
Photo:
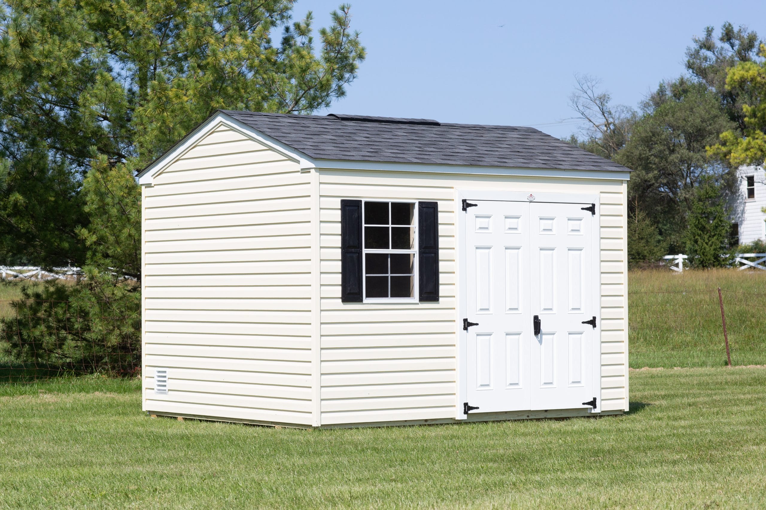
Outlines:
{"label": "white farmhouse partly hidden by trees at the right edge", "polygon": [[766,174],[761,166],[741,166],[732,199],[732,234],[739,244],[766,240]]}

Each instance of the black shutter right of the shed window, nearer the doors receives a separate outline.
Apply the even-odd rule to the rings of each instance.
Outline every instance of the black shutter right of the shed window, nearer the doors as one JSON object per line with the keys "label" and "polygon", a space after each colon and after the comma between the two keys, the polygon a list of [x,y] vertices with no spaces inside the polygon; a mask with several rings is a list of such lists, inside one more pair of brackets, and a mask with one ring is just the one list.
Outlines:
{"label": "black shutter right of the shed window, nearer the doors", "polygon": [[439,204],[417,202],[417,248],[421,301],[439,300]]}

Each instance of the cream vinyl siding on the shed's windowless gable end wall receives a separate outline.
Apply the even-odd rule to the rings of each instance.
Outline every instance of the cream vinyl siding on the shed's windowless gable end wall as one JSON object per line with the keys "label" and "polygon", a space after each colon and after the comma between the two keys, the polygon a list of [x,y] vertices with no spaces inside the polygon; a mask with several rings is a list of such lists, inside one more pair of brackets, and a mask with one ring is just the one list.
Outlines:
{"label": "cream vinyl siding on the shed's windowless gable end wall", "polygon": [[[143,408],[311,423],[311,191],[218,126],[143,188]],[[169,394],[155,395],[155,368]]]}

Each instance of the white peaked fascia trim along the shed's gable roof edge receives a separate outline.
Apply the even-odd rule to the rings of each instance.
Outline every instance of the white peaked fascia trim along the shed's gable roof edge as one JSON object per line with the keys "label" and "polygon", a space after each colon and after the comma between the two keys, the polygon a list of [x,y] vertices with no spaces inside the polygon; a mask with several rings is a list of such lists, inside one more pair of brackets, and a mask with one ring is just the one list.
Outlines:
{"label": "white peaked fascia trim along the shed's gable roof edge", "polygon": [[310,160],[309,157],[302,152],[298,152],[296,149],[293,149],[289,145],[285,145],[282,142],[278,142],[277,140],[271,138],[270,136],[264,135],[264,133],[259,132],[250,126],[247,126],[247,124],[241,123],[237,119],[228,116],[226,113],[218,112],[214,116],[211,116],[209,119],[207,119],[204,123],[201,123],[199,126],[197,126],[196,129],[185,136],[182,142],[178,143],[178,145],[176,145],[173,149],[171,149],[169,152],[166,152],[164,155],[160,156],[159,159],[156,159],[155,162],[153,162],[151,165],[144,168],[138,175],[139,185],[151,186],[152,181],[156,175],[162,172],[162,170],[164,170],[172,162],[182,158],[183,155],[185,155],[186,152],[197,145],[201,139],[205,138],[205,136],[208,136],[208,134],[211,131],[214,131],[214,129],[218,129],[219,126],[226,126],[228,129],[232,129],[236,132],[239,132],[243,136],[247,136],[247,138],[253,139],[262,143],[263,145],[266,145],[274,152],[278,152],[287,159],[298,163],[302,171],[309,168],[316,168],[316,163]]}

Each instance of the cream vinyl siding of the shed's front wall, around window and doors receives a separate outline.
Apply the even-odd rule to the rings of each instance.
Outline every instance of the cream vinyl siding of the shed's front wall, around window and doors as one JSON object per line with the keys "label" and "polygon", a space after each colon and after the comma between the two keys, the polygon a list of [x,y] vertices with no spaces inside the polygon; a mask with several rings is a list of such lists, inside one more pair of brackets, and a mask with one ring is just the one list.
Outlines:
{"label": "cream vinyl siding of the shed's front wall, around window and doors", "polygon": [[[601,194],[601,409],[626,410],[622,181],[320,170],[322,425],[455,417],[456,189]],[[440,302],[340,301],[341,198],[438,202]]]}

